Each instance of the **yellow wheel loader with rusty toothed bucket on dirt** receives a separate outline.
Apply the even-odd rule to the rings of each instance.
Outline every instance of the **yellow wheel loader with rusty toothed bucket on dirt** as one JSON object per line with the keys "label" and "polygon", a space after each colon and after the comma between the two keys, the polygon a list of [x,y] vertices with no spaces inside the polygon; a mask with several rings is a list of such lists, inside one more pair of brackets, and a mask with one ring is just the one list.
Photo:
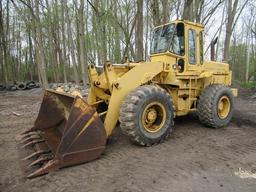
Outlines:
{"label": "yellow wheel loader with rusty toothed bucket on dirt", "polygon": [[45,90],[34,126],[19,136],[26,177],[99,158],[118,123],[141,146],[166,140],[174,118],[190,112],[207,127],[227,126],[232,72],[206,61],[203,45],[203,25],[176,20],[154,29],[150,61],[107,62],[101,73],[90,65],[87,98]]}

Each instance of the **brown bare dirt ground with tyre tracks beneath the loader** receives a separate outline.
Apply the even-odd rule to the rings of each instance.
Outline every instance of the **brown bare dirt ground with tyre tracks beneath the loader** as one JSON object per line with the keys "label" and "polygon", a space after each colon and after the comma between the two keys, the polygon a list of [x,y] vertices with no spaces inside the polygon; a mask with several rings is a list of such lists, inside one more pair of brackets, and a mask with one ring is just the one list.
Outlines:
{"label": "brown bare dirt ground with tyre tracks beneath the loader", "polygon": [[224,129],[191,114],[175,119],[172,136],[139,147],[116,129],[100,159],[32,180],[23,178],[15,135],[31,127],[40,90],[0,93],[0,191],[256,191],[256,99],[241,90]]}

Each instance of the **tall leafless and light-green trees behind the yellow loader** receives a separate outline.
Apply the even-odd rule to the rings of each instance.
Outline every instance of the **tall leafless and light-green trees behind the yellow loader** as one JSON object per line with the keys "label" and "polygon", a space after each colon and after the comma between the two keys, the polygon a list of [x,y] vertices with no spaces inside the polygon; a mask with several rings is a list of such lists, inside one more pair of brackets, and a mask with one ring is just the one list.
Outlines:
{"label": "tall leafless and light-green trees behind the yellow loader", "polygon": [[152,28],[174,19],[204,24],[210,41],[219,37],[215,59],[248,81],[255,10],[253,0],[0,0],[0,82],[86,84],[89,64],[148,60]]}

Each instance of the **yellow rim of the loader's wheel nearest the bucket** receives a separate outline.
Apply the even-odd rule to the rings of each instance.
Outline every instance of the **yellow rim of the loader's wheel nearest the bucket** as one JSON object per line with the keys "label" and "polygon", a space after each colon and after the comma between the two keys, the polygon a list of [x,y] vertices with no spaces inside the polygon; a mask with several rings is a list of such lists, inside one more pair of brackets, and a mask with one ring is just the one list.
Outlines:
{"label": "yellow rim of the loader's wheel nearest the bucket", "polygon": [[159,102],[153,102],[146,106],[142,114],[142,124],[146,131],[155,133],[159,131],[166,120],[165,107]]}

